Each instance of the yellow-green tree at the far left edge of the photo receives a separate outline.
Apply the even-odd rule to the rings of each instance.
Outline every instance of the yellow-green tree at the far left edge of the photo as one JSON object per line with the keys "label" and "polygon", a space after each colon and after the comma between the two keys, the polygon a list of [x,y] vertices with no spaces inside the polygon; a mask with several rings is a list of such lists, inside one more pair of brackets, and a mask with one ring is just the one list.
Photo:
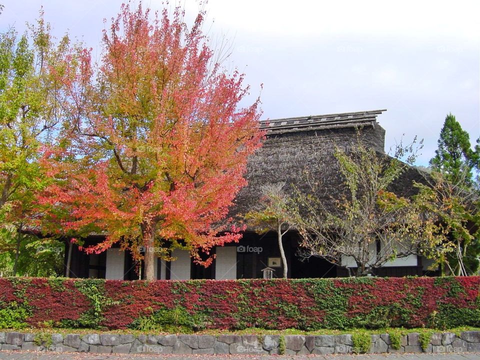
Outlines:
{"label": "yellow-green tree at the far left edge of the photo", "polygon": [[[11,275],[26,269],[22,262],[43,263],[35,247],[47,248],[45,242],[55,249],[62,246],[30,229],[38,217],[32,206],[35,193],[47,183],[38,164],[40,149],[51,142],[61,123],[65,87],[57,76],[62,66],[58,58],[69,48],[68,36],[54,41],[41,11],[37,23],[24,34],[19,36],[11,28],[0,35],[0,252],[8,257],[5,261],[12,261]],[[61,254],[49,255],[56,266]]]}

